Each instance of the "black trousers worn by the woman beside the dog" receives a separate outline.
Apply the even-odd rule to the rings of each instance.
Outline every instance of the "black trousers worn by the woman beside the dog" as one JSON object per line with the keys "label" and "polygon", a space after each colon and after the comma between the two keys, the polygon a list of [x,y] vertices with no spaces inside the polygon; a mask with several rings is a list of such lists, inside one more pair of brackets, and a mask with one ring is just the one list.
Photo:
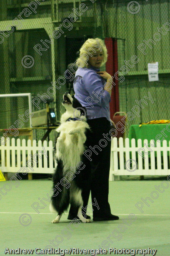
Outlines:
{"label": "black trousers worn by the woman beside the dog", "polygon": [[[111,154],[111,129],[110,122],[105,118],[89,119],[88,124],[91,131],[87,134],[87,156],[84,156],[85,169],[82,172],[90,172],[89,186],[82,193],[83,207],[87,209],[88,198],[91,190],[91,202],[93,205],[93,216],[103,217],[111,214],[108,203],[109,170]],[[91,152],[90,152],[91,151]],[[91,154],[91,156],[90,156]],[[97,203],[96,203],[97,202]],[[97,207],[98,205],[98,207]],[[89,204],[91,206],[91,204]],[[78,209],[70,208],[69,214],[77,215]],[[83,210],[83,212],[85,212]]]}

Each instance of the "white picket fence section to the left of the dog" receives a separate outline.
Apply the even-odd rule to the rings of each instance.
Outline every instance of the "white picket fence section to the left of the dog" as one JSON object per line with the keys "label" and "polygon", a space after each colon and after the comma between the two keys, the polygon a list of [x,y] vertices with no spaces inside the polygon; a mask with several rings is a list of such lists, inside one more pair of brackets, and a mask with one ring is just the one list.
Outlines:
{"label": "white picket fence section to the left of the dog", "polygon": [[[36,155],[37,154],[37,155]],[[32,163],[31,163],[32,161]],[[27,164],[28,162],[28,164]],[[53,159],[53,142],[41,140],[17,141],[12,138],[0,145],[0,170],[2,172],[53,173],[56,166]],[[23,167],[26,167],[25,169]]]}

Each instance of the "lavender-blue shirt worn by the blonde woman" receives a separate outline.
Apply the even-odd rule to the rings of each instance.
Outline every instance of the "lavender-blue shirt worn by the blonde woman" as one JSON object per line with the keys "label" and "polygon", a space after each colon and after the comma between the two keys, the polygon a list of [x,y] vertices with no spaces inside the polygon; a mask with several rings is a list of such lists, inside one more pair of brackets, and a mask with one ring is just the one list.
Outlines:
{"label": "lavender-blue shirt worn by the blonde woman", "polygon": [[110,121],[111,96],[104,90],[105,80],[94,67],[78,68],[74,79],[75,98],[87,110],[87,119],[106,117]]}

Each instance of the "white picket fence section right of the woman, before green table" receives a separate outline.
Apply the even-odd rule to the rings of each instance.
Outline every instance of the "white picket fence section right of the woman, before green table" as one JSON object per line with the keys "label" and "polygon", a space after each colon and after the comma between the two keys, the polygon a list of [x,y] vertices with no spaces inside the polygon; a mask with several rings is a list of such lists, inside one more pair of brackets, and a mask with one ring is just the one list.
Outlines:
{"label": "white picket fence section right of the woman, before green table", "polygon": [[[153,140],[149,142],[154,145]],[[144,140],[144,151],[142,148],[142,140],[113,138],[111,142],[111,169],[109,180],[114,180],[114,176],[119,175],[170,175],[170,141],[164,140],[161,143],[156,142],[156,147],[149,146],[148,142]],[[152,151],[152,152],[151,152]],[[145,154],[142,154],[144,152]],[[156,152],[156,153],[155,153]],[[147,153],[147,154],[146,154]]]}

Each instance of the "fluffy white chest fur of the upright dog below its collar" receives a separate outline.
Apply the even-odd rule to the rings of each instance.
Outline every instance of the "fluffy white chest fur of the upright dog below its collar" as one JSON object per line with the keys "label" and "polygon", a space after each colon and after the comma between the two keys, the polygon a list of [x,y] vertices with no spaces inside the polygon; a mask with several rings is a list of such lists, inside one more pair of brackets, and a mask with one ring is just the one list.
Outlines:
{"label": "fluffy white chest fur of the upright dog below its collar", "polygon": [[89,125],[85,117],[83,121],[70,120],[62,122],[57,128],[56,131],[60,132],[60,134],[56,144],[56,157],[63,161],[63,172],[70,171],[70,167],[76,167],[81,160],[81,156],[85,151],[86,129],[89,129]]}

